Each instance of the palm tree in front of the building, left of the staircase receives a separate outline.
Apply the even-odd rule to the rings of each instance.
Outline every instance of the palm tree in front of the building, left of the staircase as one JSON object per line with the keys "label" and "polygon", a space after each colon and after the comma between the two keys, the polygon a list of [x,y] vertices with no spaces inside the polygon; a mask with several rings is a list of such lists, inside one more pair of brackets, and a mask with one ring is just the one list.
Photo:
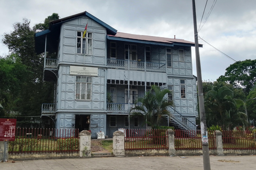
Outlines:
{"label": "palm tree in front of the building, left of the staircase", "polygon": [[131,108],[132,115],[145,117],[149,126],[159,126],[163,116],[170,114],[167,107],[173,106],[172,101],[165,97],[168,93],[171,93],[168,89],[161,90],[158,86],[152,86],[151,91],[138,98],[137,104]]}

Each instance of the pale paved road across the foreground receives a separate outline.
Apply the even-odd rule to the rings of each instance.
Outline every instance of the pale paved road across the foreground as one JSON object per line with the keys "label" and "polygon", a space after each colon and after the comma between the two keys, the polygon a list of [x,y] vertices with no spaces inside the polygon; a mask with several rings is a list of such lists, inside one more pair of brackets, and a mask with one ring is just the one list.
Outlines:
{"label": "pale paved road across the foreground", "polygon": [[[211,169],[256,169],[256,156],[210,156]],[[101,157],[76,159],[20,160],[0,163],[1,170],[11,169],[203,169],[202,156],[186,157]]]}

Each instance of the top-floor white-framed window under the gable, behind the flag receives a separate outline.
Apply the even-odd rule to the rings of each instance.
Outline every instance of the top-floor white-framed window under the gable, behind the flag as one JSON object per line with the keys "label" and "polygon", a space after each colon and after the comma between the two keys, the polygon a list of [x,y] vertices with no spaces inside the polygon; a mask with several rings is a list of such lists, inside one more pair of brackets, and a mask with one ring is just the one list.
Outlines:
{"label": "top-floor white-framed window under the gable, behind the flag", "polygon": [[83,38],[83,31],[77,31],[76,53],[78,54],[92,54],[92,33],[86,32]]}

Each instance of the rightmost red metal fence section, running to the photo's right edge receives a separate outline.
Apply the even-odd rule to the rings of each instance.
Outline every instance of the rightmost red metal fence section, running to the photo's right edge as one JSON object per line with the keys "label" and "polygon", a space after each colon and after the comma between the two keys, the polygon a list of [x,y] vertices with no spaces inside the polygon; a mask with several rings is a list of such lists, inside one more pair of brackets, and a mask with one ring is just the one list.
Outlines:
{"label": "rightmost red metal fence section, running to the photo's right edge", "polygon": [[224,150],[256,149],[255,131],[222,131]]}

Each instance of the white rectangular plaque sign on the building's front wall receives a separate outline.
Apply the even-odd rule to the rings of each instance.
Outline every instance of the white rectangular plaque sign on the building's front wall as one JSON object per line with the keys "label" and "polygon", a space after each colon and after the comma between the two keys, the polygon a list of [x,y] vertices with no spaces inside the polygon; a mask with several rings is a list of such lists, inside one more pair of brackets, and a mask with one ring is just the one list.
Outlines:
{"label": "white rectangular plaque sign on the building's front wall", "polygon": [[70,75],[91,75],[98,76],[98,68],[70,66]]}

